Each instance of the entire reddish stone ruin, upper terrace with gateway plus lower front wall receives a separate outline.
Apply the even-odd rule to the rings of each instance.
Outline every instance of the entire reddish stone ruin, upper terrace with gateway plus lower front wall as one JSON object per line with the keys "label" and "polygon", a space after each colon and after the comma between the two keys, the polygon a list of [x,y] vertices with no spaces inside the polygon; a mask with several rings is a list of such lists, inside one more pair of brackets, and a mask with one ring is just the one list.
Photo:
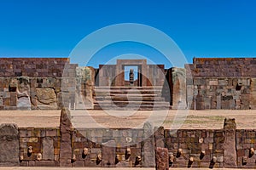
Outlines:
{"label": "entire reddish stone ruin, upper terrace with gateway plus lower front wall", "polygon": [[[2,124],[0,166],[255,168],[255,129],[236,129],[235,119],[225,119],[221,129],[145,122],[127,133],[70,122],[70,111],[84,109],[255,109],[255,65],[255,58],[195,58],[165,69],[146,59],[119,59],[96,69],[63,58],[2,58],[0,110],[69,110],[61,110],[60,127]],[[137,67],[128,78],[126,66]]]}

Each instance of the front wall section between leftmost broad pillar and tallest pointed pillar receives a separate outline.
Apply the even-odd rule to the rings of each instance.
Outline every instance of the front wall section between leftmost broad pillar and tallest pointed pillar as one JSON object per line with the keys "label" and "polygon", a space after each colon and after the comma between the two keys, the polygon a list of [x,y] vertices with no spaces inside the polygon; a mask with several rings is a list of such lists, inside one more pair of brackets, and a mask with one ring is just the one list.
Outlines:
{"label": "front wall section between leftmost broad pillar and tallest pointed pillar", "polygon": [[20,127],[19,133],[21,167],[59,166],[61,144],[59,128]]}

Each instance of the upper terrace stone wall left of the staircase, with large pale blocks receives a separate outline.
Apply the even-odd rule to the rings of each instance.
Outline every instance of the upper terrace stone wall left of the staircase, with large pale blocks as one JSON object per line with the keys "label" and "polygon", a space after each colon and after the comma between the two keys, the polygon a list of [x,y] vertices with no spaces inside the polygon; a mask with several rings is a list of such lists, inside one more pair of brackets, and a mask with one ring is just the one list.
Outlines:
{"label": "upper terrace stone wall left of the staircase, with large pale blocks", "polygon": [[67,58],[0,59],[0,110],[61,108],[62,94],[74,94],[77,66]]}

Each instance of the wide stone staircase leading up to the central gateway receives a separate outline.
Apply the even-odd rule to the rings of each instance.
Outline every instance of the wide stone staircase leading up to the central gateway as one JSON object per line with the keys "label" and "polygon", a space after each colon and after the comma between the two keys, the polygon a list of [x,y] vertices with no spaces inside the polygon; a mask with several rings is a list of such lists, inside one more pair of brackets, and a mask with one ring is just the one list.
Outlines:
{"label": "wide stone staircase leading up to the central gateway", "polygon": [[95,87],[94,109],[114,111],[168,110],[162,87]]}

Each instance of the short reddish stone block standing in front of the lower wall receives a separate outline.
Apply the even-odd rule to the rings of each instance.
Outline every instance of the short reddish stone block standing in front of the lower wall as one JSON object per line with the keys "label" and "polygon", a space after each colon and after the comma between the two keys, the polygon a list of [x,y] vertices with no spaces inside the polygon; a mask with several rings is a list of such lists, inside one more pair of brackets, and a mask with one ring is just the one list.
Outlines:
{"label": "short reddish stone block standing in front of the lower wall", "polygon": [[156,150],[156,170],[168,170],[169,169],[169,156],[168,149],[157,147]]}

